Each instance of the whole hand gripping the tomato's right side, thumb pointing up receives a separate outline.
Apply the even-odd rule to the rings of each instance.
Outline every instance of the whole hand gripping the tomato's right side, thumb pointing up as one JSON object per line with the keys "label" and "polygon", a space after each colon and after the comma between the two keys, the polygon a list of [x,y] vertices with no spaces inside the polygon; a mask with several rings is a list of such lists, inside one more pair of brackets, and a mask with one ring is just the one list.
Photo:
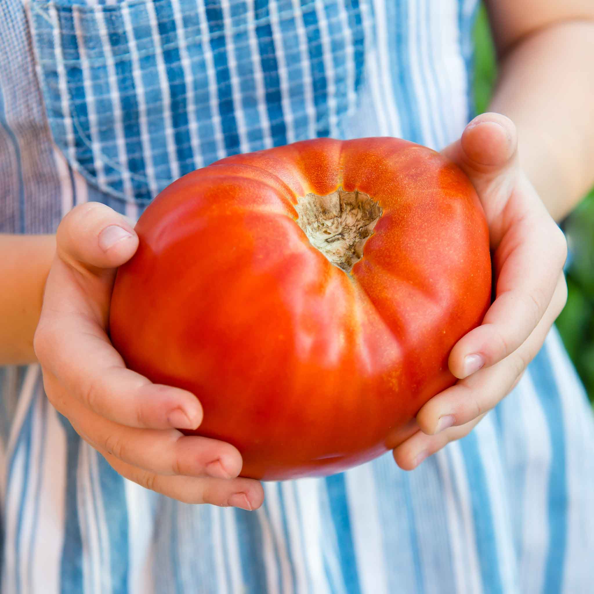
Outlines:
{"label": "whole hand gripping the tomato's right side, thumb pointing up", "polygon": [[442,152],[469,176],[485,210],[496,293],[482,325],[451,350],[459,381],[421,408],[420,431],[394,449],[405,470],[469,434],[516,386],[567,300],[567,243],[520,168],[513,122],[483,113]]}

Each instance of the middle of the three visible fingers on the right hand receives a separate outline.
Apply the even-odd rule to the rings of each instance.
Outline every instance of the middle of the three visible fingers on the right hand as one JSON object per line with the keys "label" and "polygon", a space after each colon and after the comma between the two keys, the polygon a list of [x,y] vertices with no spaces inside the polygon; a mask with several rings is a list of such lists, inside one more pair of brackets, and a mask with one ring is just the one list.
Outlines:
{"label": "middle of the three visible fingers on the right hand", "polygon": [[481,369],[425,403],[416,416],[421,431],[434,435],[451,426],[463,426],[496,406],[541,349],[566,297],[567,285],[562,276],[554,300],[526,342],[503,361]]}

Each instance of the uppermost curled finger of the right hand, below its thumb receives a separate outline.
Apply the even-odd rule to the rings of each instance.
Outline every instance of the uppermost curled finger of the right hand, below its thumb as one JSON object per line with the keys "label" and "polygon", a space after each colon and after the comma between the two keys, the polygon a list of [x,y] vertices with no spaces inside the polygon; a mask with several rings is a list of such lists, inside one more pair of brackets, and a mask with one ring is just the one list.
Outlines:
{"label": "uppermost curled finger of the right hand, below its thumb", "polygon": [[[546,225],[546,221],[541,223]],[[497,279],[495,301],[481,326],[463,336],[450,352],[448,365],[459,379],[514,352],[532,333],[554,297],[567,243],[557,226],[552,226],[545,236],[539,229],[530,229],[531,224],[525,220],[514,232],[526,241],[516,243],[510,236],[498,248],[496,260],[505,260]],[[536,219],[533,225],[538,224]],[[497,267],[497,261],[495,264]],[[563,307],[559,299],[557,304]]]}

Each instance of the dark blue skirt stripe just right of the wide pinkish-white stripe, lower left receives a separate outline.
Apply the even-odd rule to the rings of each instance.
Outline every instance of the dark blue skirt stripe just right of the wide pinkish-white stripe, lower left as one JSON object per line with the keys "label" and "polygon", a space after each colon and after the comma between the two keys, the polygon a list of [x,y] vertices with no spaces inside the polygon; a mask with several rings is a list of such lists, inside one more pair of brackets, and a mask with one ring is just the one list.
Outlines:
{"label": "dark blue skirt stripe just right of the wide pinkish-white stripe, lower left", "polygon": [[62,592],[83,592],[83,539],[78,523],[77,475],[78,454],[81,440],[68,419],[59,415],[66,432],[66,497],[64,509],[67,510],[64,526],[64,545],[60,568]]}

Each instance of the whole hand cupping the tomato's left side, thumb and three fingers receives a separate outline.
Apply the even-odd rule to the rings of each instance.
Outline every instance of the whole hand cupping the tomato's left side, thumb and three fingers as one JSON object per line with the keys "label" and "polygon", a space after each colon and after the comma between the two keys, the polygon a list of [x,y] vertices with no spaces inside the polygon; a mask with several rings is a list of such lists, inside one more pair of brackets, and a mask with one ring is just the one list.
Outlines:
{"label": "whole hand cupping the tomato's left side, thumb and three fingers", "polygon": [[64,217],[56,241],[34,339],[52,405],[131,481],[187,503],[260,507],[260,483],[235,478],[242,466],[235,447],[174,428],[200,425],[195,396],[126,369],[109,342],[115,268],[138,247],[131,226],[89,203]]}

